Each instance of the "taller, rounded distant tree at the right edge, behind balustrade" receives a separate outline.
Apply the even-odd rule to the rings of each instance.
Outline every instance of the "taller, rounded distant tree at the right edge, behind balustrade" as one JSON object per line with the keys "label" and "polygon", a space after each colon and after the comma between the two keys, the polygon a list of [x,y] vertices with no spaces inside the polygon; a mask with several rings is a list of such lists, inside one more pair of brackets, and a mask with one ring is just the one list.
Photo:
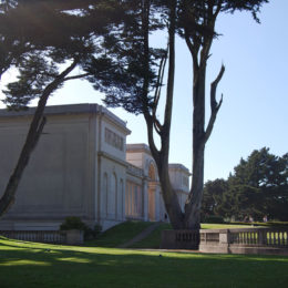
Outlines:
{"label": "taller, rounded distant tree at the right edge, behind balustrade", "polygon": [[[243,204],[253,208],[255,217],[288,219],[288,157],[275,156],[268,148],[254,151],[247,161],[241,160],[235,174],[228,178],[229,185],[244,192]],[[246,185],[249,187],[245,188]]]}

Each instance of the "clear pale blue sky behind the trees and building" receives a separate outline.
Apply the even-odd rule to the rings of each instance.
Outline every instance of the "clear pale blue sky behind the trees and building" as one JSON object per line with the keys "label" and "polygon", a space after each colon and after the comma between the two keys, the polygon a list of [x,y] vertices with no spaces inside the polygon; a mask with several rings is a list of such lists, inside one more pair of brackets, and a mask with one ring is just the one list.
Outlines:
{"label": "clear pale blue sky behind the trees and building", "polygon": [[[240,157],[264,146],[282,155],[288,152],[288,1],[270,0],[257,24],[248,13],[222,14],[207,69],[209,83],[220,64],[226,72],[218,85],[224,94],[213,134],[206,145],[205,179],[226,178]],[[192,167],[192,62],[185,43],[177,40],[175,104],[171,163]],[[6,79],[12,76],[10,72]],[[208,95],[208,94],[207,94]],[[208,100],[208,99],[207,99]],[[101,95],[89,83],[66,83],[49,101],[50,105],[101,103]],[[207,101],[207,103],[209,103]],[[2,104],[0,104],[2,105]],[[132,134],[127,143],[147,143],[142,115],[112,110],[127,121]],[[207,121],[209,106],[207,106]]]}

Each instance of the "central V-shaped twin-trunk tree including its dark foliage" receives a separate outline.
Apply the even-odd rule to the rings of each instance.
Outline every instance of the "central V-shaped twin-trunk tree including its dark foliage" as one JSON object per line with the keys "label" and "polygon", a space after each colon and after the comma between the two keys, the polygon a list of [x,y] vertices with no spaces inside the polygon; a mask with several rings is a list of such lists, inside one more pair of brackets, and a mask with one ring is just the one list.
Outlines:
{"label": "central V-shaped twin-trunk tree including its dark foliage", "polygon": [[[120,66],[115,69],[113,85],[104,83],[101,89],[106,93],[109,106],[122,106],[132,113],[144,115],[147,126],[148,144],[157,164],[163,198],[174,228],[199,228],[199,214],[204,185],[204,153],[223,99],[216,100],[216,90],[225,68],[222,65],[218,75],[210,83],[210,117],[205,124],[206,65],[210,56],[213,40],[218,35],[215,23],[220,13],[248,11],[256,21],[261,4],[267,0],[227,1],[227,0],[171,0],[171,1],[122,1],[134,9],[132,25],[125,25],[128,38],[124,45],[115,51],[121,55]],[[160,21],[158,23],[158,19]],[[154,25],[155,21],[157,24]],[[167,51],[154,50],[150,34],[154,29],[164,29],[167,38]],[[193,179],[185,210],[182,212],[176,193],[168,177],[168,152],[174,97],[175,74],[175,37],[181,35],[191,52],[193,60]],[[136,39],[136,44],[133,41]],[[123,49],[125,56],[123,56]],[[115,59],[117,56],[115,55]],[[166,70],[165,70],[166,65]],[[164,72],[166,71],[166,78]],[[126,78],[126,75],[130,75]],[[164,81],[166,80],[166,82]],[[164,93],[163,85],[166,85]],[[99,89],[97,85],[95,85]],[[164,95],[163,95],[164,94]],[[164,99],[164,115],[158,117],[160,97]],[[162,102],[163,103],[163,102]],[[155,135],[160,137],[156,145]]]}

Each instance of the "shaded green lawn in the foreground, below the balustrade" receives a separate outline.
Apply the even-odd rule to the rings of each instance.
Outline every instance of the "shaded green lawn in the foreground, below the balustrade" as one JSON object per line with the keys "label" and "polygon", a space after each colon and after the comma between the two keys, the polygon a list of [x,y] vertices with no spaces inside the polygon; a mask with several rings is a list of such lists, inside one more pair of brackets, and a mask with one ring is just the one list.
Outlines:
{"label": "shaded green lawn in the foreground, below the balustrade", "polygon": [[0,238],[0,287],[288,287],[288,257],[161,255]]}

